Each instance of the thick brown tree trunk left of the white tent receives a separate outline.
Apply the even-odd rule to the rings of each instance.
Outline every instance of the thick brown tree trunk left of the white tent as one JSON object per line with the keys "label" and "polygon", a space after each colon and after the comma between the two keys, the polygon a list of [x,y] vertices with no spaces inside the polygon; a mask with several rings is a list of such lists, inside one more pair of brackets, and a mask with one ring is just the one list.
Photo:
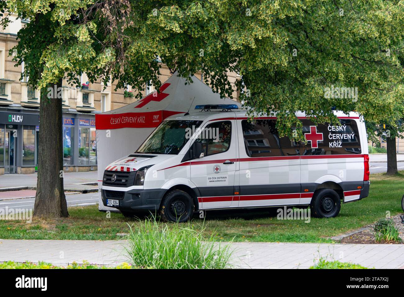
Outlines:
{"label": "thick brown tree trunk left of the white tent", "polygon": [[[57,90],[61,90],[61,86],[62,80],[59,80]],[[55,86],[49,87],[53,91],[41,90],[34,217],[68,217],[63,189],[62,100],[57,98],[59,92]]]}

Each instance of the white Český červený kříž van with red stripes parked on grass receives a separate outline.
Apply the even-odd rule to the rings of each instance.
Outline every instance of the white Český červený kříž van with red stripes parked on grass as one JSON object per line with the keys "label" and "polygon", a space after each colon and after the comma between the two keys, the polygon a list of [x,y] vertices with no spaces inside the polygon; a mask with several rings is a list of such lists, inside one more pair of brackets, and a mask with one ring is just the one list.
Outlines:
{"label": "white \u010cesk\u00fd \u010derven\u00fd k\u0159\u00ed\u017e van with red stripes parked on grass", "polygon": [[186,221],[196,211],[310,206],[335,217],[341,203],[368,196],[364,120],[335,112],[339,125],[304,114],[306,142],[279,137],[276,116],[252,121],[237,105],[198,105],[166,118],[137,151],[103,175],[102,200],[125,216],[159,212]]}

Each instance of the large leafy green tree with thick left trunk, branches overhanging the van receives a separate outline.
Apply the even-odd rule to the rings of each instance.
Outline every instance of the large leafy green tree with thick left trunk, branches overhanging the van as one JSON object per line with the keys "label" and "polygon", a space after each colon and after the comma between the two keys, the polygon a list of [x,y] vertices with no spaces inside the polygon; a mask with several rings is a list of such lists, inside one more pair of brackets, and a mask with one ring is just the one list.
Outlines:
{"label": "large leafy green tree with thick left trunk, branches overhanging the van", "polygon": [[[25,61],[24,74],[44,96],[36,215],[67,215],[63,181],[48,183],[62,170],[61,126],[55,126],[61,103],[44,94],[64,77],[78,84],[82,72],[90,81],[111,78],[118,87],[141,90],[151,81],[158,88],[162,61],[185,77],[202,70],[205,81],[229,97],[227,71],[238,72],[241,99],[254,112],[278,112],[281,135],[292,136],[292,127],[301,126],[299,110],[317,122],[337,122],[333,108],[356,110],[371,122],[398,120],[404,34],[398,0],[8,0],[6,5],[6,13],[31,20],[17,36],[14,59],[17,65]],[[358,95],[327,89],[341,87]],[[55,145],[41,146],[44,141]]]}

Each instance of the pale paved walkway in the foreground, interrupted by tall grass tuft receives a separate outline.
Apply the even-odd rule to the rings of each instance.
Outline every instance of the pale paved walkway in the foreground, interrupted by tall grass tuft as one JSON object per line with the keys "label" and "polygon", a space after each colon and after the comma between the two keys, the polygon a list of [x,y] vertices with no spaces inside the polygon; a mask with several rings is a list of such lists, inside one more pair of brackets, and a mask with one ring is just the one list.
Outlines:
{"label": "pale paved walkway in the foreground, interrupted by tall grass tuft", "polygon": [[[73,261],[116,265],[125,259],[126,242],[93,240],[4,240],[0,261]],[[227,244],[227,243],[222,243]],[[319,257],[361,264],[368,268],[404,268],[404,244],[231,243],[236,268],[309,268]]]}

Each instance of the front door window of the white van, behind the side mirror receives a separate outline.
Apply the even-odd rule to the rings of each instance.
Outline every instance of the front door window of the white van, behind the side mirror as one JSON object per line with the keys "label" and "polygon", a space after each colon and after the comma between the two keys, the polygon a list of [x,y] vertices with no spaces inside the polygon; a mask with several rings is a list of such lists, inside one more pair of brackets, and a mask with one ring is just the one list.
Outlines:
{"label": "front door window of the white van, behind the side mirror", "polygon": [[224,121],[208,124],[198,138],[204,147],[205,156],[226,152],[230,147],[231,122]]}

